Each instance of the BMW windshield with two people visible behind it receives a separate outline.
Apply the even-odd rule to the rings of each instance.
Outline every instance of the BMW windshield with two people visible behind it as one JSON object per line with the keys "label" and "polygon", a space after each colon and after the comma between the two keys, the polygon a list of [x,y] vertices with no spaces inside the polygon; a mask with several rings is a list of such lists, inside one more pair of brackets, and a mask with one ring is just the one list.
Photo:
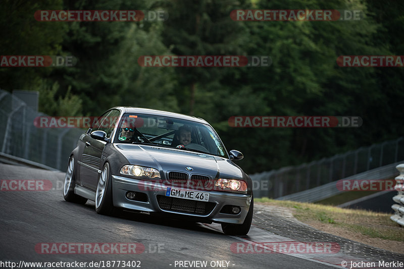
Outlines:
{"label": "BMW windshield with two people visible behind it", "polygon": [[209,125],[162,116],[124,114],[114,142],[160,145],[227,158],[224,145]]}

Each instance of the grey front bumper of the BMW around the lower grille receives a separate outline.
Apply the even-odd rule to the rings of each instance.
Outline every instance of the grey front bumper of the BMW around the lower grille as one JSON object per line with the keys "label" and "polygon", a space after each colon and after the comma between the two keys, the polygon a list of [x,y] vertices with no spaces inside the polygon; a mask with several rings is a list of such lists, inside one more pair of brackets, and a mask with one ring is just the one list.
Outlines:
{"label": "grey front bumper of the BMW around the lower grille", "polygon": [[[200,190],[210,193],[208,202],[214,203],[214,208],[206,214],[196,214],[164,209],[159,206],[158,196],[165,196],[168,187],[179,188],[175,185],[165,185],[162,183],[155,184],[152,181],[114,175],[112,176],[112,185],[113,203],[116,207],[150,213],[160,213],[174,218],[187,218],[196,222],[242,224],[247,216],[251,202],[251,195],[249,194]],[[181,188],[186,189],[186,187]],[[146,201],[129,200],[125,196],[128,191],[144,193],[147,195],[147,199]],[[239,206],[241,210],[238,214],[220,212],[225,205]]]}

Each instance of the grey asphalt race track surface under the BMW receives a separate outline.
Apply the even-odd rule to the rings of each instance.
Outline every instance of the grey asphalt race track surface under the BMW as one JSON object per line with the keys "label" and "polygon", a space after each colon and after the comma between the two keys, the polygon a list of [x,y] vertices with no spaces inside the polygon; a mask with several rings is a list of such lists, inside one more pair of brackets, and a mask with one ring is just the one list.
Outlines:
{"label": "grey asphalt race track surface under the BMW", "polygon": [[[5,190],[0,191],[0,261],[2,268],[11,268],[10,263],[24,262],[87,262],[118,260],[131,262],[141,268],[325,268],[330,267],[296,256],[282,253],[233,253],[232,243],[250,240],[226,236],[210,226],[184,223],[175,220],[156,219],[142,213],[124,212],[121,218],[97,214],[94,203],[85,205],[66,202],[62,195],[64,173],[46,171],[24,166],[0,164],[0,180],[49,180],[48,191]],[[253,221],[254,224],[254,221]],[[216,225],[217,226],[217,225]],[[215,227],[215,226],[212,226]],[[260,229],[254,228],[255,236]],[[252,241],[252,240],[251,240]],[[256,239],[254,241],[257,242]],[[261,241],[262,242],[262,241]],[[41,244],[43,243],[43,244]],[[60,243],[66,243],[63,245]],[[119,254],[95,251],[83,254],[67,249],[70,243],[140,243],[134,253]],[[144,246],[144,250],[142,247]],[[52,249],[55,247],[55,249]],[[143,251],[142,251],[143,250]],[[51,252],[51,254],[46,253]],[[68,253],[62,253],[62,252]],[[71,252],[70,252],[71,251]],[[76,252],[74,252],[76,251]],[[133,261],[133,262],[132,262]],[[179,263],[179,261],[207,261],[206,265]],[[217,263],[218,262],[218,263]],[[212,266],[213,265],[213,266]],[[34,266],[21,266],[34,268]],[[20,268],[21,268],[20,267]],[[38,266],[36,266],[38,267]],[[120,264],[119,268],[123,267]],[[334,266],[335,267],[335,266]],[[38,267],[39,268],[39,267]],[[43,267],[42,267],[43,268]],[[110,268],[112,264],[110,263]],[[129,268],[129,266],[126,266]]]}

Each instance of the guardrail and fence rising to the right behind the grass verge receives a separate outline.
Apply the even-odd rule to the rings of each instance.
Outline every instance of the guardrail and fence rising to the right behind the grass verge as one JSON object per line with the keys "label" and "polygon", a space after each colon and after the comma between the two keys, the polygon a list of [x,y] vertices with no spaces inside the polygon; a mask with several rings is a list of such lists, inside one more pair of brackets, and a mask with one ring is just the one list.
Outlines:
{"label": "guardrail and fence rising to the right behind the grass verge", "polygon": [[404,160],[404,139],[361,147],[330,158],[250,175],[255,197],[279,198]]}

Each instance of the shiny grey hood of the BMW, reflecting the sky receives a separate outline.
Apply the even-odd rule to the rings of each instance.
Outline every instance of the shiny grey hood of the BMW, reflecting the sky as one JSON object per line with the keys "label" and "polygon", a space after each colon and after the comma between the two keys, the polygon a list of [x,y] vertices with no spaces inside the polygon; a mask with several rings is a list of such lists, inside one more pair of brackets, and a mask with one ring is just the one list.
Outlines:
{"label": "shiny grey hood of the BMW, reflecting the sky", "polygon": [[[215,178],[242,179],[243,173],[229,159],[210,154],[175,148],[117,144],[116,148],[132,165],[157,168],[160,172],[179,171],[188,174],[207,175]],[[187,167],[192,171],[186,170]]]}

